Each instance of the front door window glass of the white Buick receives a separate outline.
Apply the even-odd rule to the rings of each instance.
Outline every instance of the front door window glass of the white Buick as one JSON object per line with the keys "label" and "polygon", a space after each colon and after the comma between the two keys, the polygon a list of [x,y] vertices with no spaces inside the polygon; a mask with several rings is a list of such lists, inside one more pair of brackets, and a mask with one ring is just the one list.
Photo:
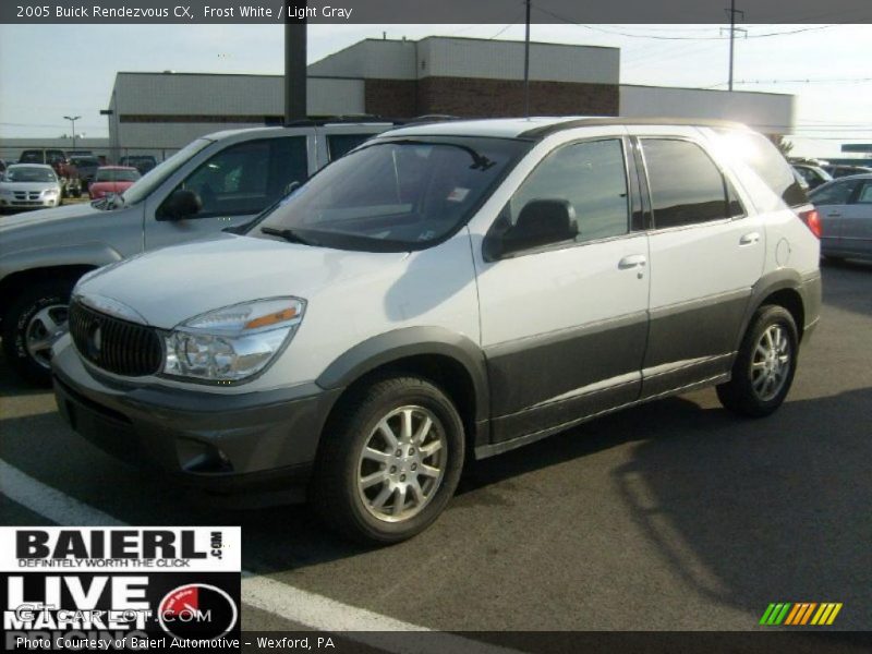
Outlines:
{"label": "front door window glass of the white Buick", "polygon": [[579,226],[578,242],[626,234],[629,210],[621,142],[574,143],[545,157],[509,203],[512,225],[532,199],[569,201]]}

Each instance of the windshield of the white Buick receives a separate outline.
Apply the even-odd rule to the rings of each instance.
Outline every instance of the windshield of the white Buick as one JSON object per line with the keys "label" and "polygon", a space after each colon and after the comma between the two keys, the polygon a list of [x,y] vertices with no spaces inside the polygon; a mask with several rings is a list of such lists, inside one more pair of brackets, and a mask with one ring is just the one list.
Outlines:
{"label": "windshield of the white Buick", "polygon": [[465,223],[529,146],[508,138],[375,142],[325,168],[249,233],[340,250],[423,250]]}

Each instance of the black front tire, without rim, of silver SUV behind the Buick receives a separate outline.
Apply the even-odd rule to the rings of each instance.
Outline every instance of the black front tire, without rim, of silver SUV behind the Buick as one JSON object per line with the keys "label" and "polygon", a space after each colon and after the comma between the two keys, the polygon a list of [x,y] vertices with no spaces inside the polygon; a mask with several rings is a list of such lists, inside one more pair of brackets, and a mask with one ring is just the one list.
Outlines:
{"label": "black front tire, without rim, of silver SUV behind the Buick", "polygon": [[9,365],[36,386],[51,384],[51,370],[27,351],[26,335],[34,316],[50,306],[68,305],[75,281],[59,279],[34,283],[19,295],[3,315],[3,353]]}

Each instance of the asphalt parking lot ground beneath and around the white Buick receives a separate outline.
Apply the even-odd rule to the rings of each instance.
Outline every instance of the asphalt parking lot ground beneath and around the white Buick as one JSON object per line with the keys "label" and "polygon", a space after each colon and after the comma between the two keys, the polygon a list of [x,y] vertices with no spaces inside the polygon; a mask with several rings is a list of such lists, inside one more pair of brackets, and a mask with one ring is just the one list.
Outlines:
{"label": "asphalt parking lot ground beneath and around the white Buick", "polygon": [[775,415],[739,420],[705,390],[601,419],[474,464],[434,528],[386,549],[301,507],[192,504],[86,444],[0,361],[15,498],[0,521],[240,524],[264,580],[243,592],[246,630],[329,611],[455,631],[748,630],[771,602],[840,602],[835,628],[869,629],[872,265],[823,275],[821,325]]}

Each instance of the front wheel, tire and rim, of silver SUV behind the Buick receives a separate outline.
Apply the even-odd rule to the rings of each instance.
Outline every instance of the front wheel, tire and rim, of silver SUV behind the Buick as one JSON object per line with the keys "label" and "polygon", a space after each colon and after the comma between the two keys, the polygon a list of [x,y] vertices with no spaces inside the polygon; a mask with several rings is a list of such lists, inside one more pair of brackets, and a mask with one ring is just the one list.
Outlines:
{"label": "front wheel, tire and rim, of silver SUV behind the Buick", "polygon": [[51,383],[51,347],[66,332],[70,280],[34,283],[3,316],[3,353],[24,379],[39,386]]}

